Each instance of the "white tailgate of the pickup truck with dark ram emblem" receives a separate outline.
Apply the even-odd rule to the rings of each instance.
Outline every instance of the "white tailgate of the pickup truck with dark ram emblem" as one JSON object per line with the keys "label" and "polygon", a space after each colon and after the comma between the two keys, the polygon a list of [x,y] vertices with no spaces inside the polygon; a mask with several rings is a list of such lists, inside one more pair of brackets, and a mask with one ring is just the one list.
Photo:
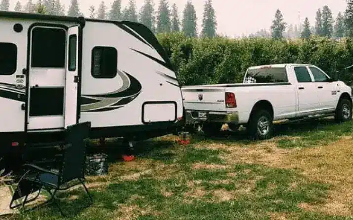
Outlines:
{"label": "white tailgate of the pickup truck with dark ram emblem", "polygon": [[224,87],[182,88],[186,110],[226,111]]}

